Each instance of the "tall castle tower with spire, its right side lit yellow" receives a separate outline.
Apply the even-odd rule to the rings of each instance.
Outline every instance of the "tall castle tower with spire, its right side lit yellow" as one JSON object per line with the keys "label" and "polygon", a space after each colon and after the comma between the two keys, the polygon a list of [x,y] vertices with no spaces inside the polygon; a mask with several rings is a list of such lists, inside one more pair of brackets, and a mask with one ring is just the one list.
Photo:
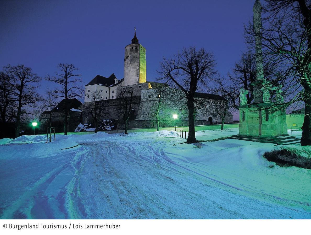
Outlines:
{"label": "tall castle tower with spire, its right side lit yellow", "polygon": [[136,30],[132,43],[125,47],[124,86],[146,82],[146,49],[138,43]]}

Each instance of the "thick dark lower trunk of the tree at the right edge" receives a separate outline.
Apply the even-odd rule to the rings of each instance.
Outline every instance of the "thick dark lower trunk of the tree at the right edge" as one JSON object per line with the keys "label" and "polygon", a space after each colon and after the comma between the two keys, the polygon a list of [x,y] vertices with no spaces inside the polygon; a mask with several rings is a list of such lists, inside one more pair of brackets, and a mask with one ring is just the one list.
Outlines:
{"label": "thick dark lower trunk of the tree at the right edge", "polygon": [[[305,92],[308,92],[307,90]],[[305,96],[306,99],[304,99],[305,102],[305,113],[304,113],[304,124],[302,125],[302,136],[300,140],[300,144],[305,145],[311,145],[311,92],[306,93]]]}

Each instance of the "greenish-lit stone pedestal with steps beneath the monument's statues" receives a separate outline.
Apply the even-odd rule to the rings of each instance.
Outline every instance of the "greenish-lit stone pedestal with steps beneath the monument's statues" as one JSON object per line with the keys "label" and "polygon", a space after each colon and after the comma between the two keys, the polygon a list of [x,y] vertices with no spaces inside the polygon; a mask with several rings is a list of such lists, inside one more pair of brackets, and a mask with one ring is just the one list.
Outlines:
{"label": "greenish-lit stone pedestal with steps beneath the monument's statues", "polygon": [[232,139],[283,144],[298,141],[287,134],[286,113],[277,104],[262,102],[240,105],[239,134]]}

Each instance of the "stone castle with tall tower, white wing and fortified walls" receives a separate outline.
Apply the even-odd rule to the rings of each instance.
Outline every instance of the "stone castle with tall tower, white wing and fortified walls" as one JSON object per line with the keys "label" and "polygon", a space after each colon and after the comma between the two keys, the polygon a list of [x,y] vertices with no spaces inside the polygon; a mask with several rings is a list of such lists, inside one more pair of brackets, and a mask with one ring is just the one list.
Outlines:
{"label": "stone castle with tall tower, white wing and fortified walls", "polygon": [[[155,127],[155,120],[152,114],[155,113],[156,104],[160,98],[159,91],[155,89],[156,82],[148,82],[146,73],[146,49],[143,47],[136,36],[136,31],[131,44],[124,49],[124,78],[116,78],[112,73],[108,78],[97,75],[88,84],[85,85],[84,104],[81,105],[82,122],[93,123],[87,108],[94,102],[94,94],[96,92],[96,102],[100,108],[104,110],[101,119],[111,119],[116,121],[116,126],[122,129],[122,118],[118,110],[121,108],[124,100],[122,99],[122,91],[126,89],[132,90],[132,115],[128,122],[128,128]],[[211,100],[222,100],[219,95],[197,93],[197,97],[202,98],[208,104]],[[162,106],[160,126],[172,126],[174,120],[173,113],[178,113],[178,126],[188,126],[188,113],[185,109],[183,94],[176,95],[174,93],[162,94],[162,100],[165,104]],[[208,107],[208,105],[206,106]],[[220,123],[220,117],[217,116],[212,108],[199,109],[195,117],[195,125],[210,125]],[[233,122],[233,115],[228,113],[226,123]]]}

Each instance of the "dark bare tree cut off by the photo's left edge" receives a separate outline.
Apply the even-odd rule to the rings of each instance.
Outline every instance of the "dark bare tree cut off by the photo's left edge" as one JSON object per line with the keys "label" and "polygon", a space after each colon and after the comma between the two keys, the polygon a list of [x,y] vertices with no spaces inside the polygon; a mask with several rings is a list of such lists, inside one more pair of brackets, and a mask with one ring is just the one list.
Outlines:
{"label": "dark bare tree cut off by the photo's left edge", "polygon": [[14,100],[12,97],[13,86],[11,77],[5,71],[0,72],[0,117],[4,125],[6,122],[11,122],[14,118]]}

